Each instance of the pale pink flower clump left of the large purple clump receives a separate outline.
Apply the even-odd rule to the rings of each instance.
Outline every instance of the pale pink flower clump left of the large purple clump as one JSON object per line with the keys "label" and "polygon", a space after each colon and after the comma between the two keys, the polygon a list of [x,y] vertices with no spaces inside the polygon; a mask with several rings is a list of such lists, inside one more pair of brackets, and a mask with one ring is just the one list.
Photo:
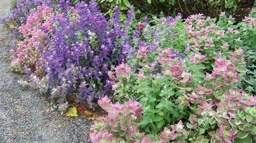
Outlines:
{"label": "pale pink flower clump left of the large purple clump", "polygon": [[27,22],[19,27],[24,39],[18,42],[17,49],[11,50],[11,69],[20,72],[30,70],[39,77],[44,76],[40,49],[47,45],[45,39],[52,32],[53,16],[53,10],[47,5],[38,6],[37,11],[30,11]]}

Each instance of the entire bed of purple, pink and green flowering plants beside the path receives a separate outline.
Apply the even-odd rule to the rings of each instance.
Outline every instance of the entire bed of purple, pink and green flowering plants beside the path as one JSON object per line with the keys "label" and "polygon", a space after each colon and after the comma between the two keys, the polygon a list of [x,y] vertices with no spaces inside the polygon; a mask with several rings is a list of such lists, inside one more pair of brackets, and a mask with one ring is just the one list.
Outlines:
{"label": "entire bed of purple, pink and green flowering plants beside the path", "polygon": [[255,9],[239,23],[225,12],[137,22],[93,0],[19,2],[11,69],[68,116],[70,103],[105,110],[91,141],[255,141]]}

